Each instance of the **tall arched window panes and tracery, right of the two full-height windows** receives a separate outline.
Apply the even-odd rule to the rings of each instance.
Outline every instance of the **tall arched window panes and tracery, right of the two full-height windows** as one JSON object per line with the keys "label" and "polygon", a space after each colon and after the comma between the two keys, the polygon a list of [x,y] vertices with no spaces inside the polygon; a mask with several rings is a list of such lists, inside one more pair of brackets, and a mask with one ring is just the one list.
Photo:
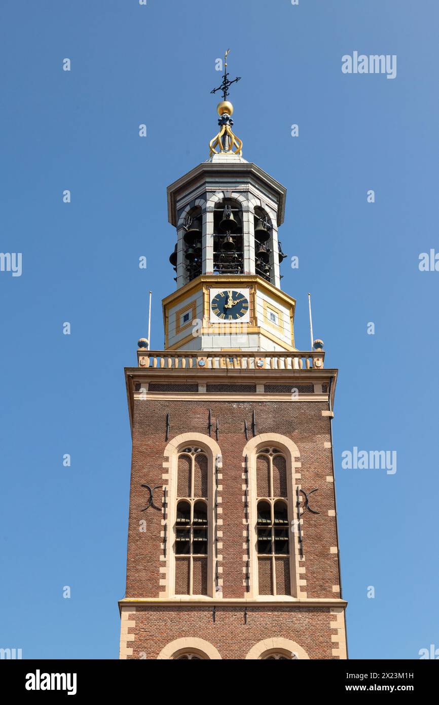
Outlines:
{"label": "tall arched window panes and tracery, right of the two full-height windows", "polygon": [[278,448],[256,455],[256,553],[260,595],[290,595],[287,463]]}

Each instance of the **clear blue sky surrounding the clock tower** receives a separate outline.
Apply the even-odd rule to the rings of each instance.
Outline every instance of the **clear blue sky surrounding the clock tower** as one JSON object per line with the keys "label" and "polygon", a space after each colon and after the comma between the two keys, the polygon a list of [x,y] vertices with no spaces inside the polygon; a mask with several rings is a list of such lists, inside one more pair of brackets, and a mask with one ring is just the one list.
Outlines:
{"label": "clear blue sky surrounding the clock tower", "polygon": [[[243,156],[287,188],[280,239],[299,269],[285,260],[282,286],[297,299],[297,346],[309,347],[311,291],[314,335],[340,369],[350,656],[438,647],[439,272],[418,266],[439,250],[438,4],[4,0],[0,20],[0,250],[23,253],[20,277],[0,272],[0,646],[23,658],[118,656],[123,367],[146,335],[150,288],[152,348],[163,345],[175,241],[166,186],[208,157],[215,61],[230,47]],[[343,74],[353,51],[396,54],[396,78]],[[354,446],[396,450],[397,472],[343,470]]]}

